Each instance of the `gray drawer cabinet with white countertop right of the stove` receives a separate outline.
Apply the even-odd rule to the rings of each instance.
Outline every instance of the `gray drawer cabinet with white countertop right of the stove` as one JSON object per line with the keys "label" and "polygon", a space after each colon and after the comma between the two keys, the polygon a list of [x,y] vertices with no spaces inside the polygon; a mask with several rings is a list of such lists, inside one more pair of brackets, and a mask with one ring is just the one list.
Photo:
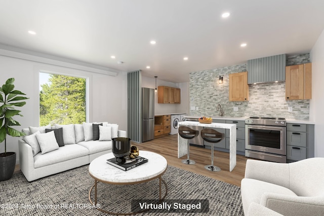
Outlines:
{"label": "gray drawer cabinet with white countertop right of the stove", "polygon": [[314,125],[287,123],[287,160],[314,157]]}

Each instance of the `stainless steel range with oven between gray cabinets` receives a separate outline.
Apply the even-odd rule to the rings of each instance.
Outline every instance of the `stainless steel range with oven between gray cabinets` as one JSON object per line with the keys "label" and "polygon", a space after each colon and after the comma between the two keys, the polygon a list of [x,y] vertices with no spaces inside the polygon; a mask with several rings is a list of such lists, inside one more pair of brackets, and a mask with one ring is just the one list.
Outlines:
{"label": "stainless steel range with oven between gray cabinets", "polygon": [[250,117],[245,124],[246,157],[286,163],[286,119]]}

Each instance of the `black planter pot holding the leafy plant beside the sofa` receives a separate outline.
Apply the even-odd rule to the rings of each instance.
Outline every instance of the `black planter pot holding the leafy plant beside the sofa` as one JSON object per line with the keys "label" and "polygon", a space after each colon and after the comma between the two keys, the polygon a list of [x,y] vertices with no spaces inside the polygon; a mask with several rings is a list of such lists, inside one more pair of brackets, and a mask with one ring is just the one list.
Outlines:
{"label": "black planter pot holding the leafy plant beside the sofa", "polygon": [[0,181],[6,181],[12,177],[16,166],[16,153],[7,152],[0,154]]}

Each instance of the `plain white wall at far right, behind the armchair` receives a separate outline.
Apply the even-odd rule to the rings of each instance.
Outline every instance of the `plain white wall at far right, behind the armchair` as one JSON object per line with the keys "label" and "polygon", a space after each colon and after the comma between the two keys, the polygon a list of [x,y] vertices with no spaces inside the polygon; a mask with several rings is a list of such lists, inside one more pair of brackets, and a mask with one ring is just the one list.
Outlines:
{"label": "plain white wall at far right, behind the armchair", "polygon": [[315,157],[324,157],[324,30],[310,52],[312,62],[312,99],[310,120],[315,122]]}

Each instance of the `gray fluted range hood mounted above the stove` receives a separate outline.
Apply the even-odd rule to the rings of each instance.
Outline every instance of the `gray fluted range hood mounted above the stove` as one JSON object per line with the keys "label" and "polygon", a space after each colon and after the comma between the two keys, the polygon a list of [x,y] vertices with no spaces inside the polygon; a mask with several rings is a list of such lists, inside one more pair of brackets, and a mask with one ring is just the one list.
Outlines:
{"label": "gray fluted range hood mounted above the stove", "polygon": [[248,84],[286,80],[286,54],[248,60]]}

